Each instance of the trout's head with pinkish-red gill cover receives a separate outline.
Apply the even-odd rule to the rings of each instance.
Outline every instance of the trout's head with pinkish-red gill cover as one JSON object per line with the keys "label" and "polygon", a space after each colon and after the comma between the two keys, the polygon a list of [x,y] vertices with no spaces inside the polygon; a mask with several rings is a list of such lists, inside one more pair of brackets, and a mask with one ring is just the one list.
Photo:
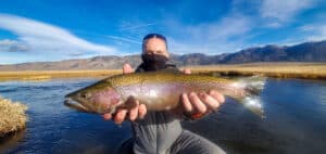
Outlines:
{"label": "trout's head with pinkish-red gill cover", "polygon": [[65,95],[64,104],[87,113],[114,113],[122,104],[121,94],[112,87],[96,84]]}

